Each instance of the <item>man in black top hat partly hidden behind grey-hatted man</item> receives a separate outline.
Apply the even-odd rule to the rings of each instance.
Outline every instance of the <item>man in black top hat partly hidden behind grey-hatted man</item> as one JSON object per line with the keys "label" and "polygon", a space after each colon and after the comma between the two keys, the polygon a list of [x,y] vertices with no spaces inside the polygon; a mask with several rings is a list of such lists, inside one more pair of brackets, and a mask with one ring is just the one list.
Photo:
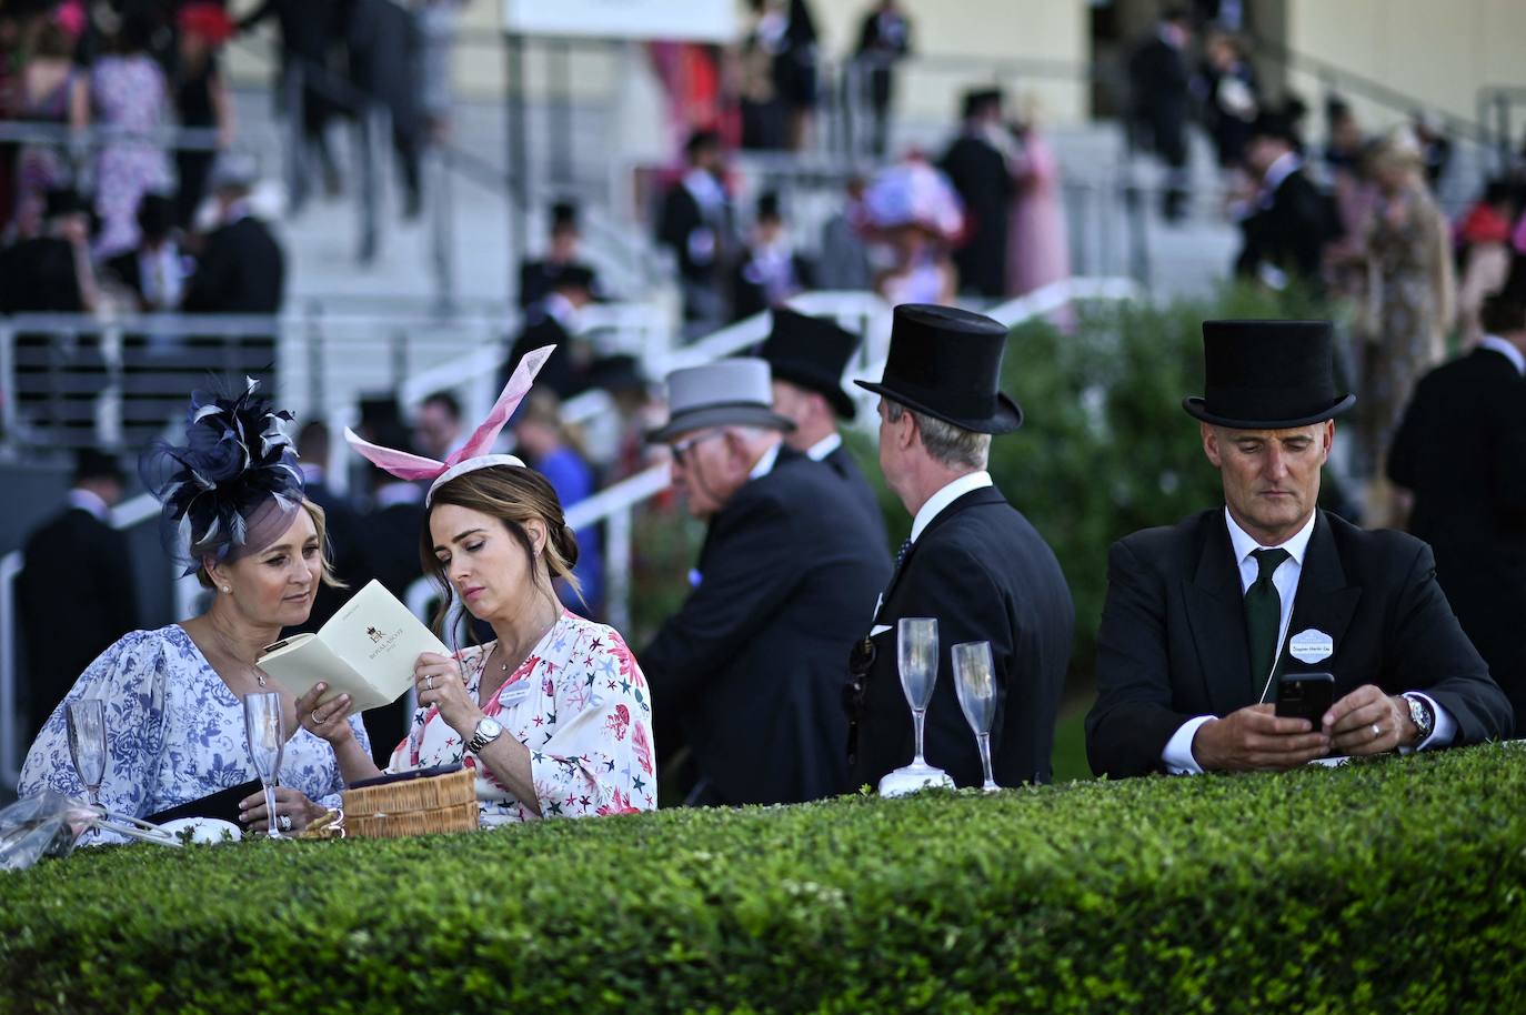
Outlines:
{"label": "man in black top hat partly hidden behind grey-hatted man", "polygon": [[848,498],[864,510],[877,545],[885,546],[879,499],[838,433],[838,420],[856,414],[852,395],[842,389],[842,371],[858,343],[856,334],[826,317],[777,308],[774,330],[758,356],[774,371],[774,412],[795,424],[784,443],[838,475]]}

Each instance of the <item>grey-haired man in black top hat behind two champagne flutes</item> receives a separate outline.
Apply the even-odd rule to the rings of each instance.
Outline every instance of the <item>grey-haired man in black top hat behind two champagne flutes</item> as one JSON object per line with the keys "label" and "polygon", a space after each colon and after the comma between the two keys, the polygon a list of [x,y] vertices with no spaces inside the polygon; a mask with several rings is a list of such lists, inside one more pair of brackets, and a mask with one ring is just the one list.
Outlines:
{"label": "grey-haired man in black top hat behind two champagne flutes", "polygon": [[992,485],[993,433],[1022,423],[998,391],[1007,330],[980,314],[902,304],[881,383],[879,464],[913,514],[911,537],[874,620],[853,650],[847,704],[853,783],[913,756],[911,711],[896,670],[896,621],[938,621],[938,678],[926,759],[958,786],[981,785],[980,752],[954,690],[949,646],[989,641],[996,678],[990,752],[996,781],[1048,781],[1054,716],[1076,611],[1054,553]]}

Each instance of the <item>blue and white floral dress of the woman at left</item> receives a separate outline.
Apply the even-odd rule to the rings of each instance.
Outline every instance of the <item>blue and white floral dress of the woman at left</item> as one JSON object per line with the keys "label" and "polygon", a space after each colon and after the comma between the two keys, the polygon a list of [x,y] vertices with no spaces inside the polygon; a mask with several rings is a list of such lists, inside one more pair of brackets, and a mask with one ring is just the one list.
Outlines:
{"label": "blue and white floral dress of the woman at left", "polygon": [[[101,803],[137,818],[179,807],[258,778],[244,737],[244,707],[179,624],[134,630],[79,675],[26,752],[17,794],[55,789],[84,797],[69,759],[64,707],[79,698],[105,701],[107,766]],[[365,723],[356,737],[371,749]],[[339,806],[345,788],[334,751],[298,730],[287,740],[281,785]]]}

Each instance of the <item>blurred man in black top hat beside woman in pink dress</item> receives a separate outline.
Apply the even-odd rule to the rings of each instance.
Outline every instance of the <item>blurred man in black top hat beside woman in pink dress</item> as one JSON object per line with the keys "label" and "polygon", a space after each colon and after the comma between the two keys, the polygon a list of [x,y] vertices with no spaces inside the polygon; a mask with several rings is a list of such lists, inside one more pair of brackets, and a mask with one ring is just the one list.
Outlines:
{"label": "blurred man in black top hat beside woman in pink dress", "polygon": [[1007,287],[1007,220],[1012,212],[1012,169],[1004,145],[1001,92],[981,89],[964,96],[964,130],[938,163],[964,201],[967,238],[954,252],[960,292],[1001,299]]}

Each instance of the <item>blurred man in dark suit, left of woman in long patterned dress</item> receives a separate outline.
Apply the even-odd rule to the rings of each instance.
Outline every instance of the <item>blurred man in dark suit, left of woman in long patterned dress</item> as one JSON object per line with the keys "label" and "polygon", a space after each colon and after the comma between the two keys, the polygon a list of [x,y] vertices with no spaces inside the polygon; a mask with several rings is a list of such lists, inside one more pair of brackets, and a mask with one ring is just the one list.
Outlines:
{"label": "blurred man in dark suit, left of woman in long patterned dress", "polygon": [[1325,243],[1332,238],[1329,201],[1303,171],[1297,134],[1282,113],[1262,113],[1245,143],[1245,169],[1259,180],[1241,218],[1244,246],[1235,273],[1273,288],[1320,287]]}

